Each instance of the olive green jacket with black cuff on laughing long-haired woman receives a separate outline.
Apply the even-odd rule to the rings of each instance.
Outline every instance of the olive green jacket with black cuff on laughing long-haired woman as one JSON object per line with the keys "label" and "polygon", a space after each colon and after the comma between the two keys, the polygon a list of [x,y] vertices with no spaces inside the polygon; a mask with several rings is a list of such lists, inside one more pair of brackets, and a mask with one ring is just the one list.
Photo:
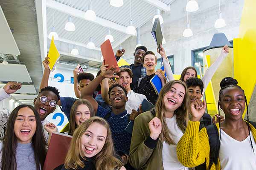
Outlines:
{"label": "olive green jacket with black cuff on laughing long-haired woman", "polygon": [[160,140],[151,139],[148,123],[155,117],[155,110],[141,113],[134,121],[129,161],[137,170],[163,170]]}

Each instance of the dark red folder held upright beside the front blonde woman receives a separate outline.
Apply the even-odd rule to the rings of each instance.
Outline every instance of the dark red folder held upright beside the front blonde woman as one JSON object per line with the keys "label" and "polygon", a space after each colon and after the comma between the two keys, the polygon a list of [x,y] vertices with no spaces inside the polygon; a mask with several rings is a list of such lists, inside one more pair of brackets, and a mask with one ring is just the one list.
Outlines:
{"label": "dark red folder held upright beside the front blonde woman", "polygon": [[53,170],[55,167],[64,164],[71,139],[72,136],[64,133],[52,133],[43,170]]}

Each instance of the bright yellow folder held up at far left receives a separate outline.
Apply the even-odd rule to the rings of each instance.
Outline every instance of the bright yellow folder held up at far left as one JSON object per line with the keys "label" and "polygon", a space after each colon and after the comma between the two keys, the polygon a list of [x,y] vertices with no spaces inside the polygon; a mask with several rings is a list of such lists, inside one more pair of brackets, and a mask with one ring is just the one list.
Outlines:
{"label": "bright yellow folder held up at far left", "polygon": [[54,71],[55,65],[57,64],[57,61],[61,57],[61,55],[59,54],[59,52],[54,44],[53,36],[52,36],[52,41],[51,41],[51,45],[50,45],[49,52],[48,52],[48,57],[49,57],[48,60],[50,62],[50,64],[48,66],[51,71]]}

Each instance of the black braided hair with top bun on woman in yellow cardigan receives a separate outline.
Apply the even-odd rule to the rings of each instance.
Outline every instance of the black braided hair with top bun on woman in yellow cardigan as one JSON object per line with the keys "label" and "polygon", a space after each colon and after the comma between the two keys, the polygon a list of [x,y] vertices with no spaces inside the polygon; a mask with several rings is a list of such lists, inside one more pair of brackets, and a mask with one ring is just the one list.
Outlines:
{"label": "black braided hair with top bun on woman in yellow cardigan", "polygon": [[[220,123],[221,118],[220,118],[220,108],[219,108],[219,106],[220,106],[220,103],[221,103],[221,94],[222,94],[223,90],[228,88],[228,87],[237,87],[237,88],[241,89],[244,93],[244,90],[237,84],[238,84],[237,80],[233,79],[232,77],[225,77],[224,79],[221,80],[221,83],[220,83],[221,90],[219,92],[219,101],[218,101],[218,120],[219,120],[219,127],[220,127],[220,140],[221,140],[221,123]],[[249,136],[250,136],[248,104],[247,104],[247,99],[246,99],[245,94],[244,94],[244,99],[245,99],[246,113],[247,113],[247,127],[248,127],[248,130],[249,130]],[[251,147],[253,149],[253,142],[252,142],[251,136],[250,136],[250,144],[251,144]],[[253,149],[253,153],[254,153],[254,149]]]}

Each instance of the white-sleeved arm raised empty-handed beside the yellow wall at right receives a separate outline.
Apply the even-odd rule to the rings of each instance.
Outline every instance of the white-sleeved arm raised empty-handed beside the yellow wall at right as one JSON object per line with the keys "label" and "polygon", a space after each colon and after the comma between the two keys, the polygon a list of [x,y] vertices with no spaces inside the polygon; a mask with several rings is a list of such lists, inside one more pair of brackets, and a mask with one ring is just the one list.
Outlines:
{"label": "white-sleeved arm raised empty-handed beside the yellow wall at right", "polygon": [[215,61],[212,63],[212,65],[205,71],[204,77],[202,77],[202,81],[204,83],[204,90],[203,90],[202,94],[204,94],[209,82],[212,79],[212,76],[215,74],[215,71],[221,65],[223,60],[227,57],[228,53],[229,53],[228,46],[225,45],[222,48],[221,54],[219,55],[219,57],[217,59],[215,59]]}

